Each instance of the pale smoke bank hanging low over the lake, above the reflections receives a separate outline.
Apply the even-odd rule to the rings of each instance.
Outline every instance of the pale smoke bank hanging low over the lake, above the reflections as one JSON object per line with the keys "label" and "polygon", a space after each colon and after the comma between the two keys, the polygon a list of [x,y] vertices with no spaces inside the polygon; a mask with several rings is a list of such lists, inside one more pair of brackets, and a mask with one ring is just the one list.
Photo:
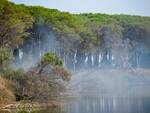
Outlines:
{"label": "pale smoke bank hanging low over the lake, above the reflections", "polygon": [[124,70],[83,70],[75,72],[72,87],[80,96],[148,97],[150,77]]}

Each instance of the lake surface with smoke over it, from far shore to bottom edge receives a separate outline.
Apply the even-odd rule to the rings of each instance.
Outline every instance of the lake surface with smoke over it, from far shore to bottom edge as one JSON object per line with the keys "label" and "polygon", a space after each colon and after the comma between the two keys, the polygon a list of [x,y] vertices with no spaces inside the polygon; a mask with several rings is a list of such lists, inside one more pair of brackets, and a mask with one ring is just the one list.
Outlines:
{"label": "lake surface with smoke over it, from far shore to bottom edge", "polygon": [[71,83],[79,97],[56,113],[150,113],[149,75],[83,71],[76,73]]}

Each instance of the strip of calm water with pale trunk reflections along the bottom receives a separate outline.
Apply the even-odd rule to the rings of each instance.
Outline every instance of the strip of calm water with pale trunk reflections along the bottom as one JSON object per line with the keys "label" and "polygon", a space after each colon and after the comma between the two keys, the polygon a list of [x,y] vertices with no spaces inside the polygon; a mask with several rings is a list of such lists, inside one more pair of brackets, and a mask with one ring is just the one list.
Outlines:
{"label": "strip of calm water with pale trunk reflections along the bottom", "polygon": [[150,113],[150,98],[81,97],[65,107],[39,113]]}

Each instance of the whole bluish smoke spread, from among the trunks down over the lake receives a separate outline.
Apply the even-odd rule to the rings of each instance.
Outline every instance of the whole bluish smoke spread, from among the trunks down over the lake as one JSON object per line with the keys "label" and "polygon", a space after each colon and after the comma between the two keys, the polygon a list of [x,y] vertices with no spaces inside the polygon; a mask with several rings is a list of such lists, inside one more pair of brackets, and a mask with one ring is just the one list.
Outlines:
{"label": "whole bluish smoke spread, from among the trunks down over the lake", "polygon": [[[76,110],[108,113],[108,109],[110,113],[134,113],[129,106],[136,101],[132,102],[130,97],[150,95],[150,72],[141,69],[150,66],[148,48],[107,28],[101,40],[101,45],[97,45],[94,51],[82,51],[77,40],[58,36],[51,28],[37,27],[33,37],[14,50],[14,67],[27,71],[40,62],[46,52],[56,53],[64,61],[64,66],[72,71],[68,89],[73,95],[81,97],[79,103],[73,105],[74,109],[71,108],[73,113]],[[138,106],[141,106],[141,99]]]}

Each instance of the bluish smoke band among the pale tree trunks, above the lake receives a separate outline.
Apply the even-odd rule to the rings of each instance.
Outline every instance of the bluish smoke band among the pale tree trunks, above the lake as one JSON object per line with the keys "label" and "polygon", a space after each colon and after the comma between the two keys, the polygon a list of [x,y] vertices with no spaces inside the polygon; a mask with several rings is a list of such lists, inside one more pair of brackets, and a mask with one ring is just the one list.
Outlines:
{"label": "bluish smoke band among the pale tree trunks, above the lake", "polygon": [[[40,62],[46,52],[57,54],[64,66],[81,69],[132,69],[149,67],[148,48],[144,43],[126,38],[123,29],[102,29],[101,44],[84,51],[78,35],[56,34],[51,27],[35,26],[33,35],[14,50],[14,67],[30,69]],[[132,34],[134,36],[134,34]],[[145,60],[146,59],[146,60]]]}

